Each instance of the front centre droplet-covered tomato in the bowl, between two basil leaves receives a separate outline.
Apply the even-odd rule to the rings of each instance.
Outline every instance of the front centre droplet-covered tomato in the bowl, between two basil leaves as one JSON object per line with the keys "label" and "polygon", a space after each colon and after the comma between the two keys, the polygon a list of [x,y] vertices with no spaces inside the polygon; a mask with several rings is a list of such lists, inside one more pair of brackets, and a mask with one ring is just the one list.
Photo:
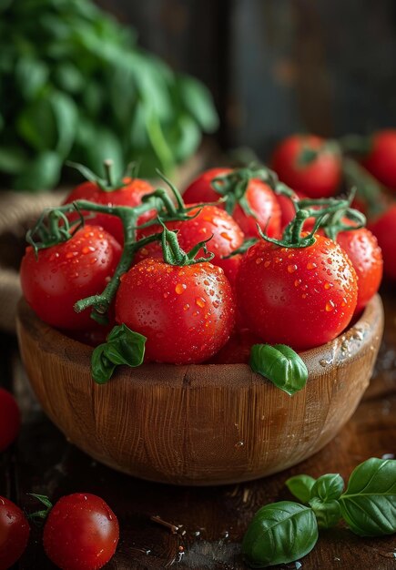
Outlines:
{"label": "front centre droplet-covered tomato in the bowl, between two basil leaves", "polygon": [[116,320],[147,337],[148,361],[198,363],[228,341],[234,293],[211,263],[178,267],[149,258],[121,278]]}

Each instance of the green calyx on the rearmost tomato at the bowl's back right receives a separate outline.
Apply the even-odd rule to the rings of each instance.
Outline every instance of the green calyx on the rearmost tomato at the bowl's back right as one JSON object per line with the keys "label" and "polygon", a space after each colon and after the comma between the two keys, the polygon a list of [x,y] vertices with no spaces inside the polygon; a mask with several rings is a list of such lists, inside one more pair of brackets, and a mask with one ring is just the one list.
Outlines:
{"label": "green calyx on the rearmost tomato at the bowl's back right", "polygon": [[225,208],[230,216],[232,216],[234,209],[239,204],[245,214],[256,218],[256,214],[250,208],[246,198],[249,182],[252,178],[258,178],[262,182],[271,185],[270,182],[273,181],[270,178],[273,174],[275,173],[263,166],[251,165],[246,168],[236,168],[229,173],[220,174],[218,177],[213,178],[211,187],[225,198]]}

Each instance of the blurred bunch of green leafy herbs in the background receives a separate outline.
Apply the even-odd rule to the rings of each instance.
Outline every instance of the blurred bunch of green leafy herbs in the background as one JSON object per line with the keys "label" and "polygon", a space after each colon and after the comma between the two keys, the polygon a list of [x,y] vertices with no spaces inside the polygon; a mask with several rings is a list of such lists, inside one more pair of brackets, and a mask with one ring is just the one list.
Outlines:
{"label": "blurred bunch of green leafy herbs in the background", "polygon": [[208,89],[89,0],[0,0],[0,182],[56,186],[66,158],[170,173],[218,127]]}

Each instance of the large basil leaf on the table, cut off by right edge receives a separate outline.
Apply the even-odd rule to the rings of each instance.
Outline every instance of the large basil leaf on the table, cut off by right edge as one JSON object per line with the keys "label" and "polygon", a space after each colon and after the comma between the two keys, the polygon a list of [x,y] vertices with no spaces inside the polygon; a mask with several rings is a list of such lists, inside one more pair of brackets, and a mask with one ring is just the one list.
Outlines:
{"label": "large basil leaf on the table, cut off by right edge", "polygon": [[341,514],[360,536],[396,533],[396,460],[372,457],[350,475]]}

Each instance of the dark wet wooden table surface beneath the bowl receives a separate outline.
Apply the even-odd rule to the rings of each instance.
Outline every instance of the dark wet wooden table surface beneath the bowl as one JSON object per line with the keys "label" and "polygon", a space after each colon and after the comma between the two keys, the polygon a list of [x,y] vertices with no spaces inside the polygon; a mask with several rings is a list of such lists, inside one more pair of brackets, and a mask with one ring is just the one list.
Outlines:
{"label": "dark wet wooden table surface beneath the bowl", "polygon": [[[2,338],[0,383],[12,387],[24,414],[22,433],[13,449],[0,456],[0,494],[26,510],[36,509],[28,493],[94,493],[116,512],[120,529],[117,554],[108,569],[151,570],[191,568],[239,570],[246,568],[240,554],[241,538],[263,504],[291,499],[285,481],[292,474],[341,473],[371,456],[396,455],[396,294],[384,288],[386,330],[371,386],[352,419],[320,453],[286,472],[251,483],[192,488],[147,483],[116,473],[92,461],[66,442],[46,419],[30,392],[19,361],[15,339]],[[168,528],[150,520],[158,514],[176,524]],[[288,568],[391,570],[396,568],[396,536],[361,539],[345,527],[320,534],[315,549]],[[17,566],[24,570],[54,568],[44,554],[41,531],[34,528],[30,545]]]}

